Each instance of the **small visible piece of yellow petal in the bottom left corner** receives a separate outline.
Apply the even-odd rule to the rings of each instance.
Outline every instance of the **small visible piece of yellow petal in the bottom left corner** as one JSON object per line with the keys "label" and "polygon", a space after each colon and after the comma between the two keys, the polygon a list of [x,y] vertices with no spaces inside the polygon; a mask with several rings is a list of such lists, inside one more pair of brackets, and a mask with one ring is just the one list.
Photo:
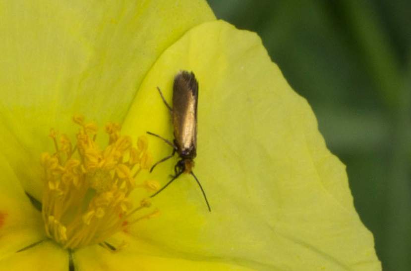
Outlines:
{"label": "small visible piece of yellow petal in the bottom left corner", "polygon": [[48,240],[0,260],[0,267],[7,271],[67,271],[68,252]]}

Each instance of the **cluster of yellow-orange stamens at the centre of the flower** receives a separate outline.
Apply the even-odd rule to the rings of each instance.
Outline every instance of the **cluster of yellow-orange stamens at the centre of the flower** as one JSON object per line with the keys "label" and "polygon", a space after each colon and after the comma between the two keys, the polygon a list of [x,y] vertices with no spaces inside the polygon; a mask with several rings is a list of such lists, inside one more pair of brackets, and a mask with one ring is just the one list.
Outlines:
{"label": "cluster of yellow-orange stamens at the centre of the flower", "polygon": [[120,135],[120,125],[106,124],[109,144],[100,150],[95,142],[97,126],[85,123],[75,115],[73,121],[81,126],[73,144],[66,135],[51,131],[56,153],[43,153],[45,171],[42,214],[47,235],[63,246],[75,249],[91,244],[110,245],[105,240],[133,223],[151,218],[158,210],[135,217],[151,203],[142,199],[133,208],[129,198],[136,188],[156,191],[155,181],[134,182],[142,170],[151,167],[147,138],[141,136],[137,148],[129,136]]}

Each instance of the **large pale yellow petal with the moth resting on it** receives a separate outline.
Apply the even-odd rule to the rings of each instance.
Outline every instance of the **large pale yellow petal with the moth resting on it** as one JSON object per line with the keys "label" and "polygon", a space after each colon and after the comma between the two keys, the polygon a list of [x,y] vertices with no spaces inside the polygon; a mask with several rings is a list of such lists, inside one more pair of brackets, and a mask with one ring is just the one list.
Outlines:
{"label": "large pale yellow petal with the moth resting on it", "polygon": [[[136,224],[133,233],[188,259],[239,261],[259,270],[380,270],[345,166],[254,33],[222,21],[187,32],[147,74],[124,133],[173,139],[156,87],[171,101],[180,69],[199,82],[194,172],[212,211],[192,177],[181,176],[152,199],[161,215]],[[154,161],[172,152],[154,136],[148,146]],[[147,178],[164,185],[176,160]]]}

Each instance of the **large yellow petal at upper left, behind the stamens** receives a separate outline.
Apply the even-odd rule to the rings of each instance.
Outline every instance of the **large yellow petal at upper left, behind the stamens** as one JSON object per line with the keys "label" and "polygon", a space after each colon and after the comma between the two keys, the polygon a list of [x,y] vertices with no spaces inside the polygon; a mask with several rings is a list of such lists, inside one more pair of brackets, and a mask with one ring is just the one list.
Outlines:
{"label": "large yellow petal at upper left, behind the stamens", "polygon": [[1,149],[37,199],[50,128],[65,133],[75,113],[120,122],[158,56],[215,19],[200,0],[6,0],[0,17]]}

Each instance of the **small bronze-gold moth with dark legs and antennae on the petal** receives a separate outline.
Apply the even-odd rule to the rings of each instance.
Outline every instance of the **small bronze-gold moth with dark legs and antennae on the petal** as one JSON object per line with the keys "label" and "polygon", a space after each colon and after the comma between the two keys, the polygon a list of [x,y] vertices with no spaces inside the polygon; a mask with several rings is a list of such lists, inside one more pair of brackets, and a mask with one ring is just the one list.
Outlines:
{"label": "small bronze-gold moth with dark legs and antennae on the petal", "polygon": [[157,136],[172,146],[173,153],[155,163],[150,169],[150,172],[153,171],[155,166],[172,158],[176,153],[178,154],[180,160],[178,160],[176,166],[174,167],[175,175],[172,176],[173,178],[166,185],[164,185],[163,188],[151,195],[151,197],[154,197],[163,191],[164,188],[176,180],[181,174],[189,173],[194,177],[195,181],[198,183],[198,186],[200,186],[201,192],[203,193],[204,199],[207,203],[208,210],[211,212],[210,204],[208,203],[204,189],[192,171],[192,168],[194,167],[194,158],[197,155],[198,83],[195,79],[194,73],[180,71],[174,78],[173,108],[171,108],[171,106],[167,103],[160,88],[157,87],[157,90],[159,91],[164,104],[167,108],[169,108],[170,113],[173,116],[174,141],[172,143],[160,135],[150,132],[147,132],[147,134]]}

